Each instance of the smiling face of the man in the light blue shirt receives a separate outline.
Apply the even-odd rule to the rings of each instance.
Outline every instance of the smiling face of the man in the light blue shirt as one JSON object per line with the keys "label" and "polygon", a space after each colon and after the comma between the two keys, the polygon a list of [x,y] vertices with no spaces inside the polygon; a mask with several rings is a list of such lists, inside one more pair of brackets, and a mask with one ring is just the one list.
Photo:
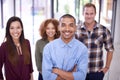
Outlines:
{"label": "smiling face of the man in the light blue shirt", "polygon": [[60,20],[59,31],[64,42],[69,42],[76,31],[76,25],[73,18],[62,18]]}

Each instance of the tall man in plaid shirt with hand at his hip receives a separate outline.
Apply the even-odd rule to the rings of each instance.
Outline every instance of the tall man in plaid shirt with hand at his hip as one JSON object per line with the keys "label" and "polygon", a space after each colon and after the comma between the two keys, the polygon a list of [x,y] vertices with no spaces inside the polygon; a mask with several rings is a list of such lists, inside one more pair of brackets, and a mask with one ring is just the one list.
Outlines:
{"label": "tall man in plaid shirt with hand at his hip", "polygon": [[[95,21],[96,7],[94,4],[84,5],[83,15],[85,22],[81,27],[78,26],[77,38],[88,48],[89,63],[86,80],[103,80],[112,60],[113,40],[110,31]],[[103,61],[103,45],[107,51],[106,64]]]}

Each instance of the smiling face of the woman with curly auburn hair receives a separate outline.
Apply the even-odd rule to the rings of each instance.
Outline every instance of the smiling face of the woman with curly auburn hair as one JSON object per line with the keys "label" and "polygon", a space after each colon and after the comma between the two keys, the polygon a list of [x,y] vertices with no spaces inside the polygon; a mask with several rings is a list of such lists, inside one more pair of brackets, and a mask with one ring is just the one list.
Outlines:
{"label": "smiling face of the woman with curly auburn hair", "polygon": [[48,38],[54,38],[56,31],[55,26],[52,23],[49,23],[46,27],[46,34]]}

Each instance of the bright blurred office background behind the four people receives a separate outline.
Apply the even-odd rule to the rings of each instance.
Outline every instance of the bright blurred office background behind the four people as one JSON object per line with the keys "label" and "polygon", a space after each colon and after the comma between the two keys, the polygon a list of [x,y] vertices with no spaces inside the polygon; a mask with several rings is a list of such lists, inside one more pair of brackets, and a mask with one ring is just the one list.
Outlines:
{"label": "bright blurred office background behind the four people", "polygon": [[[39,36],[41,22],[48,18],[56,18],[65,13],[72,14],[77,25],[84,21],[83,5],[94,3],[97,9],[96,21],[105,25],[114,39],[114,56],[110,70],[104,80],[120,80],[120,0],[0,0],[0,44],[4,40],[6,22],[11,16],[18,16],[24,24],[25,37],[30,40],[34,67],[34,80],[38,78],[35,65],[35,43]],[[105,55],[104,55],[105,58]]]}

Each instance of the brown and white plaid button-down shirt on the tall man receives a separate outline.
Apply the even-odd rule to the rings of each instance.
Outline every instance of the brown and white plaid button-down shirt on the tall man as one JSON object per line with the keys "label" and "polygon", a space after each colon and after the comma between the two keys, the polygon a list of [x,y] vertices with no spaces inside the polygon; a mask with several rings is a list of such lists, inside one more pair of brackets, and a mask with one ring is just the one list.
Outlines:
{"label": "brown and white plaid button-down shirt on the tall man", "polygon": [[103,45],[106,51],[113,51],[113,40],[110,31],[96,23],[93,31],[89,32],[85,25],[77,30],[77,38],[88,48],[88,73],[96,72],[103,67]]}

